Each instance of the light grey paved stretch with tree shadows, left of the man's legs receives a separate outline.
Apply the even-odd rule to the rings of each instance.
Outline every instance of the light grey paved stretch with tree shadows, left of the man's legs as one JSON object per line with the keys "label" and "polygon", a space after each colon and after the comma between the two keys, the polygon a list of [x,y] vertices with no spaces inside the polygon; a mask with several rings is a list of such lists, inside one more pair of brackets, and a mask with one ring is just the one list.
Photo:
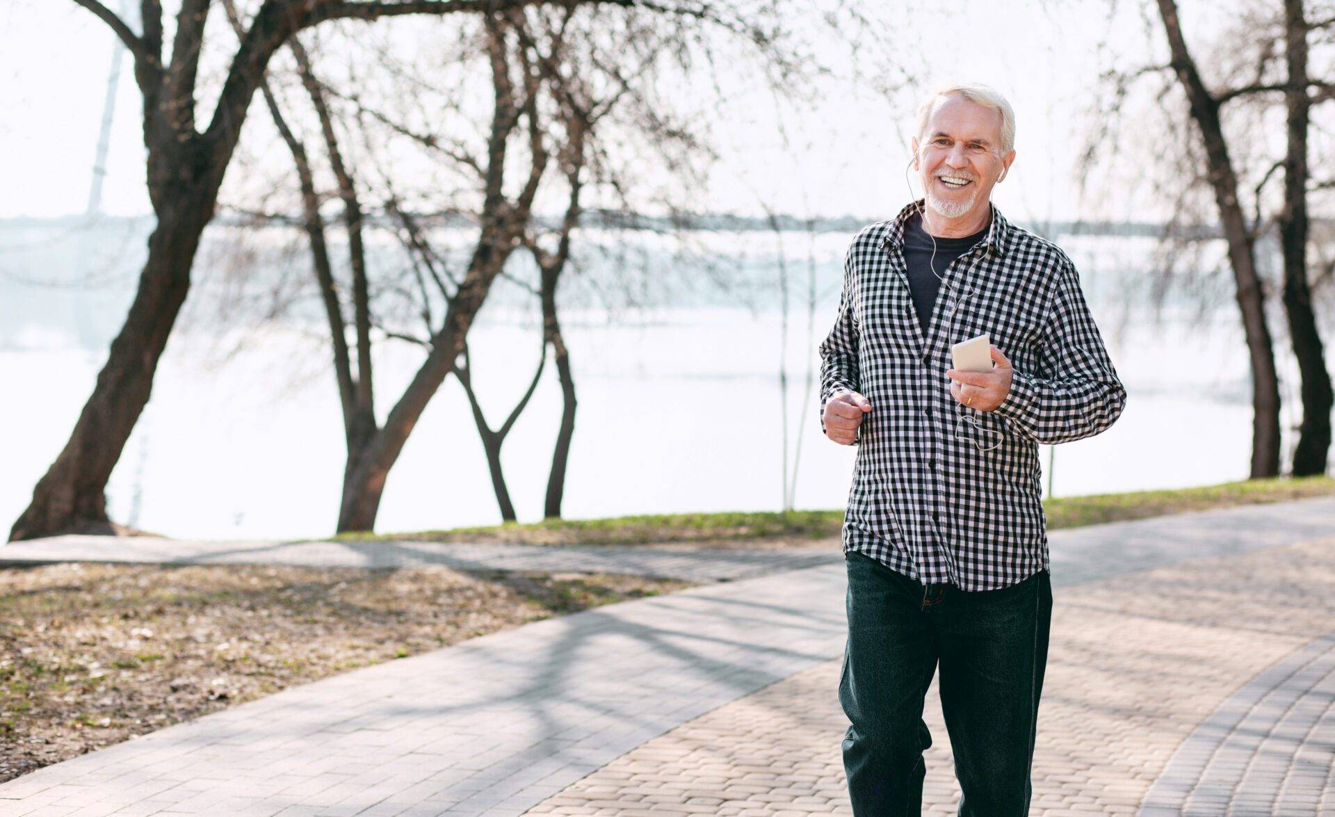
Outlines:
{"label": "light grey paved stretch with tree shadows, left of the man's legs", "polygon": [[[842,650],[841,565],[607,605],[291,688],[0,784],[0,813],[142,790],[190,813],[218,781],[248,802],[396,813],[437,800],[514,814],[645,741]],[[647,602],[647,603],[646,603]],[[320,768],[348,769],[324,802]],[[117,782],[119,781],[119,782]],[[316,805],[319,801],[319,805]],[[363,812],[363,809],[366,809]],[[370,810],[375,809],[375,810]]]}

